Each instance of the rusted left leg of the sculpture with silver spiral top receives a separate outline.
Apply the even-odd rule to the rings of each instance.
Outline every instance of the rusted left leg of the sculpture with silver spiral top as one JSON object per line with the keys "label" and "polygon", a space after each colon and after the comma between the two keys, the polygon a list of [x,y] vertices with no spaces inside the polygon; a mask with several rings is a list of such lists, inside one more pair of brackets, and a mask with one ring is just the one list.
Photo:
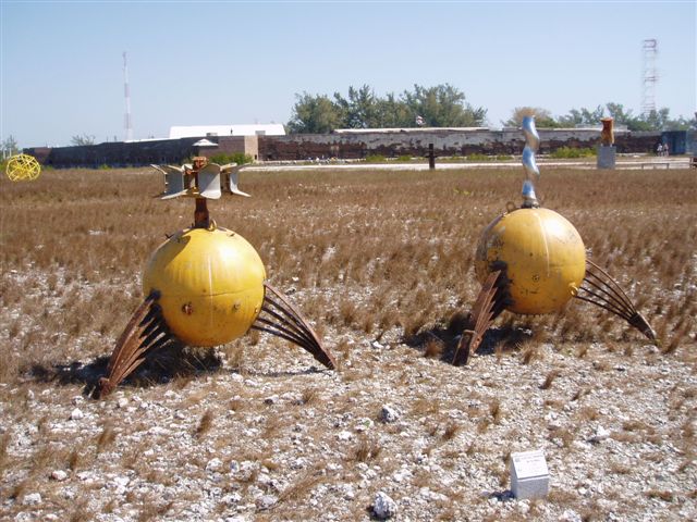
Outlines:
{"label": "rusted left leg of the sculpture with silver spiral top", "polygon": [[505,272],[503,270],[491,272],[477,296],[475,308],[469,315],[469,327],[462,333],[457,343],[453,357],[455,366],[467,364],[469,356],[479,348],[485,332],[505,309],[509,298],[509,278]]}

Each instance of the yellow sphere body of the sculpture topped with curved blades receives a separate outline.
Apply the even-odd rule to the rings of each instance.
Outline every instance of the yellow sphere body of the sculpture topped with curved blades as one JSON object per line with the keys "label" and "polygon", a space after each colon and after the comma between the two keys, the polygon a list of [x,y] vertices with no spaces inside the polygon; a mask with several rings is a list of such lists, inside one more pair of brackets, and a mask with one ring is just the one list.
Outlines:
{"label": "yellow sphere body of the sculpture topped with curved blades", "polygon": [[156,250],[143,290],[158,300],[170,330],[191,346],[217,346],[244,335],[264,302],[266,271],[246,239],[225,228],[187,228]]}

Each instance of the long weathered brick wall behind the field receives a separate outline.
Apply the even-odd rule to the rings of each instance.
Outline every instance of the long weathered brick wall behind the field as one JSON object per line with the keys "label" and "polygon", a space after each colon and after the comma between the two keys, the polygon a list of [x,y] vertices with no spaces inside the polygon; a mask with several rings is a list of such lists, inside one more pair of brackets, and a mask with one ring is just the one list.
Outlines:
{"label": "long weathered brick wall behind the field", "polygon": [[[538,129],[540,153],[560,147],[596,147],[596,129]],[[105,142],[80,147],[24,149],[42,164],[56,167],[100,165],[127,166],[150,163],[181,164],[194,156],[244,152],[259,160],[307,160],[315,158],[360,159],[370,154],[387,158],[425,156],[433,144],[437,156],[519,154],[524,140],[518,129],[435,129],[365,132],[346,134],[297,134],[290,136],[208,136],[218,147],[198,148],[200,138]],[[616,132],[619,152],[651,152],[661,133]]]}

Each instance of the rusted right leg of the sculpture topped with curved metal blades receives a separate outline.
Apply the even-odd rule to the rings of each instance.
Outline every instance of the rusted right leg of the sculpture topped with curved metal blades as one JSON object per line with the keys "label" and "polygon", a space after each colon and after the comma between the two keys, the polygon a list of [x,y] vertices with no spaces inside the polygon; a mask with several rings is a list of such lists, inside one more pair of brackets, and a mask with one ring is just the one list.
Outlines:
{"label": "rusted right leg of the sculpture topped with curved metal blades", "polygon": [[337,366],[333,356],[325,348],[317,334],[280,290],[264,284],[264,306],[252,327],[281,337],[309,351],[325,366],[333,370]]}

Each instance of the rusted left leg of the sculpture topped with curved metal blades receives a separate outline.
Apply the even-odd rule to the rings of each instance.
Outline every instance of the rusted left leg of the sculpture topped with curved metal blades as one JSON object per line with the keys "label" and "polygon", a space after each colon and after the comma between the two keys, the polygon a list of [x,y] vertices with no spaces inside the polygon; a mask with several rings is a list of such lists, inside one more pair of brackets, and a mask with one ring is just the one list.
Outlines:
{"label": "rusted left leg of the sculpture topped with curved metal blades", "polygon": [[148,350],[157,349],[172,338],[157,303],[159,297],[154,291],[140,303],[117,340],[107,366],[107,376],[101,377],[97,384],[99,398],[109,395],[121,381],[133,373],[145,360]]}

